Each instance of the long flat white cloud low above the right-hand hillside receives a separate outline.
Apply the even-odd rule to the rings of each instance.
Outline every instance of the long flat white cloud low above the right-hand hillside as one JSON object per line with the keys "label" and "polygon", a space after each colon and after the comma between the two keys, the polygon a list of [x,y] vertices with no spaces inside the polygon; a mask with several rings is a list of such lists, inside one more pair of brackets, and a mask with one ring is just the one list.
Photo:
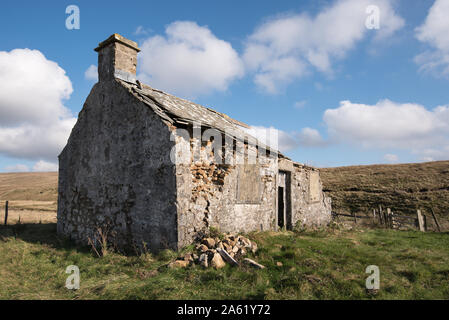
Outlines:
{"label": "long flat white cloud low above the right-hand hillside", "polygon": [[[375,105],[342,101],[340,107],[327,109],[323,120],[333,139],[367,148],[405,149],[422,156],[449,149],[449,106],[428,110],[390,100]],[[433,154],[445,158],[449,152]]]}

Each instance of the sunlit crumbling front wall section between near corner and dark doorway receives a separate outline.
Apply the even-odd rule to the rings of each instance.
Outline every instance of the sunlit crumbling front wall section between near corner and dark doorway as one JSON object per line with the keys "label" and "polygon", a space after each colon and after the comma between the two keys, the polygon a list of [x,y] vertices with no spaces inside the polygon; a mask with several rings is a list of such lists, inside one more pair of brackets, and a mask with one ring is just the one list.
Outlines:
{"label": "sunlit crumbling front wall section between near corner and dark doorway", "polygon": [[[195,139],[188,141],[180,136],[176,141],[179,150],[190,150],[192,154],[194,146],[200,145]],[[232,155],[233,165],[216,164],[211,143],[203,143],[201,154],[200,161],[190,159],[176,168],[179,246],[191,243],[198,233],[209,227],[222,232],[273,230],[277,159],[259,155],[260,203],[244,204],[236,201],[239,183],[239,164],[235,162],[237,151]]]}

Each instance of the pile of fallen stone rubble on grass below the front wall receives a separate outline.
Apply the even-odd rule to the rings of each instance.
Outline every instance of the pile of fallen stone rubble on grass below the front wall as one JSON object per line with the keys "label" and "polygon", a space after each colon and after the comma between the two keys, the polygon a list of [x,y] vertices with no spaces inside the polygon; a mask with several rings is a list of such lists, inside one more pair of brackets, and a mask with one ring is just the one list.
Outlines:
{"label": "pile of fallen stone rubble on grass below the front wall", "polygon": [[241,235],[225,235],[222,240],[218,237],[204,237],[195,246],[195,250],[196,253],[187,253],[178,257],[170,266],[185,268],[198,264],[204,268],[220,269],[227,263],[239,266],[240,262],[244,262],[258,269],[265,268],[254,260],[245,258],[248,252],[256,253],[257,244]]}

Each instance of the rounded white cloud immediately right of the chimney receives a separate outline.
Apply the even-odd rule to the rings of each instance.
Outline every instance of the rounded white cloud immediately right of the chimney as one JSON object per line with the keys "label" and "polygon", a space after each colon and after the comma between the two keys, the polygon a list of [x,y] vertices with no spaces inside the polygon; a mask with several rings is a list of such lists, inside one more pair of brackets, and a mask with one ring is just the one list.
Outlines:
{"label": "rounded white cloud immediately right of the chimney", "polygon": [[207,27],[177,21],[168,25],[165,33],[141,45],[138,77],[149,85],[195,97],[225,91],[231,81],[243,75],[237,52]]}

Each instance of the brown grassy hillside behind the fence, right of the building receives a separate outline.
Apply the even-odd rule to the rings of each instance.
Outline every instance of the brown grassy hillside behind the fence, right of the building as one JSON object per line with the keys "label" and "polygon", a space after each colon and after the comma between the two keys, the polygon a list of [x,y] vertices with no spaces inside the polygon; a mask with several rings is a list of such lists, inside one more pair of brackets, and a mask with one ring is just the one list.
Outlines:
{"label": "brown grassy hillside behind the fence, right of the building", "polygon": [[404,214],[433,207],[438,216],[449,217],[449,161],[320,171],[336,212],[371,212],[382,204]]}

